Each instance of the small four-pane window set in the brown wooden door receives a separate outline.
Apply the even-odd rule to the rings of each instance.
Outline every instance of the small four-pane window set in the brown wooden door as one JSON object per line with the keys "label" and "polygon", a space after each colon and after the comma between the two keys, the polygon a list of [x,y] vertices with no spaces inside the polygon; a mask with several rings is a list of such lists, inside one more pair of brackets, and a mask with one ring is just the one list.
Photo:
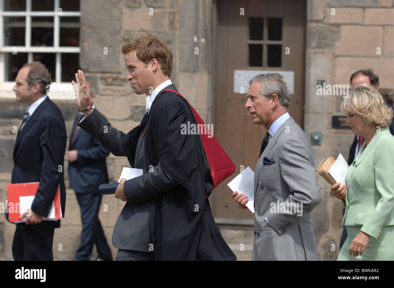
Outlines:
{"label": "small four-pane window set in the brown wooden door", "polygon": [[249,66],[273,68],[282,65],[283,18],[249,18]]}

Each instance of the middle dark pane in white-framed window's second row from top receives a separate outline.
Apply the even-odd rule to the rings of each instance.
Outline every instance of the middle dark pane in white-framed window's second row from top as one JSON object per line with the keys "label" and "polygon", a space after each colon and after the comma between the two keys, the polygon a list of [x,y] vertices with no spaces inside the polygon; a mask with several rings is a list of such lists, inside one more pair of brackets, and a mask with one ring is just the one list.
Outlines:
{"label": "middle dark pane in white-framed window's second row from top", "polygon": [[32,46],[53,46],[53,17],[32,17]]}

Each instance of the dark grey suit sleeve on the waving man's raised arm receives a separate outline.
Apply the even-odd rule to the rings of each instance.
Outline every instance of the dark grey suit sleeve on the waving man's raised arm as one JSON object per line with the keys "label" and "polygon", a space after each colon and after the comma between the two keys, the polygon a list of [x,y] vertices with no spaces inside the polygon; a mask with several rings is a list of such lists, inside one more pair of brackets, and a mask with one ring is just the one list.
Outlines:
{"label": "dark grey suit sleeve on the waving man's raised arm", "polygon": [[127,156],[129,135],[111,126],[104,116],[93,112],[78,124],[115,156]]}

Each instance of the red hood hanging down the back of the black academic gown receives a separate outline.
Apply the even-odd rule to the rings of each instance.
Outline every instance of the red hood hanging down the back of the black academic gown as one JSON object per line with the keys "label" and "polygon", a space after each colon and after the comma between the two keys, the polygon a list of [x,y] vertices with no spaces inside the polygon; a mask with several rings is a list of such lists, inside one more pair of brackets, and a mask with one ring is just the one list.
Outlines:
{"label": "red hood hanging down the back of the black academic gown", "polygon": [[[175,94],[179,95],[180,97],[186,100],[186,98],[180,95],[178,91],[169,89],[169,90],[164,90],[163,92],[165,91],[174,92]],[[186,102],[189,104],[191,111],[193,111],[197,124],[205,124],[203,119],[201,119],[199,114],[190,105],[188,100],[186,100]],[[201,136],[201,141],[203,142],[205,155],[209,163],[211,176],[212,176],[212,180],[214,181],[214,188],[215,188],[223,180],[225,180],[227,177],[229,177],[232,173],[235,172],[235,165],[234,163],[232,163],[230,157],[226,154],[226,152],[220,146],[219,142],[217,142],[215,137],[208,138],[207,134],[200,134],[200,136]]]}

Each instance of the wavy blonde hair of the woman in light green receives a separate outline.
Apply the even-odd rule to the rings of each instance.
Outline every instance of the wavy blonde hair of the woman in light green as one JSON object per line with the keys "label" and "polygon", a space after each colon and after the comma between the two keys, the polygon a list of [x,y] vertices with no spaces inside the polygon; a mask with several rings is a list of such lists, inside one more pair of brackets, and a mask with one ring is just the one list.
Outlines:
{"label": "wavy blonde hair of the woman in light green", "polygon": [[375,123],[383,128],[391,125],[393,110],[389,108],[382,95],[369,84],[359,84],[341,104],[345,114],[358,114],[366,123]]}

